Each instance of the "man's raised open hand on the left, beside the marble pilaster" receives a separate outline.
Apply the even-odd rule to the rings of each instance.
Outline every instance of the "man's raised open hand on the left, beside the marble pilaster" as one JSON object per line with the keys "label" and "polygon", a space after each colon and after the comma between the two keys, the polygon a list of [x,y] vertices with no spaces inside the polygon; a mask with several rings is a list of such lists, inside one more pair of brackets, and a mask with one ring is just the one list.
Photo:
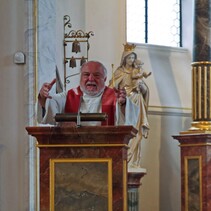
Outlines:
{"label": "man's raised open hand on the left, beside the marble pilaster", "polygon": [[53,79],[50,83],[44,83],[39,91],[38,101],[40,105],[45,108],[45,102],[47,98],[52,98],[49,94],[52,86],[56,83],[56,79]]}

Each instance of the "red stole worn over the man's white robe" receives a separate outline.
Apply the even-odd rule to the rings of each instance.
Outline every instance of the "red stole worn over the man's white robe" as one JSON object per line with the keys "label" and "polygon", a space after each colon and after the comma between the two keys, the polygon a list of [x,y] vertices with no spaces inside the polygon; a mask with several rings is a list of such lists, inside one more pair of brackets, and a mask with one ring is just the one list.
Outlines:
{"label": "red stole worn over the man's white robe", "polygon": [[[67,92],[65,113],[77,113],[80,103],[80,97],[83,95],[80,87],[70,89]],[[116,110],[116,95],[113,89],[105,87],[102,96],[102,112],[108,114],[107,121],[103,121],[101,125],[114,125]]]}

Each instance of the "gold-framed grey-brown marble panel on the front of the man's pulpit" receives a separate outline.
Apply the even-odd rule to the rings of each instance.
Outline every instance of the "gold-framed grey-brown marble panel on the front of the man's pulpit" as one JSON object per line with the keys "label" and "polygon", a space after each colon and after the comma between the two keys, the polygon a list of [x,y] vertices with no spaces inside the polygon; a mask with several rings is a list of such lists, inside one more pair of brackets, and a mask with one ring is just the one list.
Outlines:
{"label": "gold-framed grey-brown marble panel on the front of the man's pulpit", "polygon": [[112,182],[110,158],[50,159],[50,210],[61,210],[61,206],[99,210],[99,206],[107,206],[112,211]]}

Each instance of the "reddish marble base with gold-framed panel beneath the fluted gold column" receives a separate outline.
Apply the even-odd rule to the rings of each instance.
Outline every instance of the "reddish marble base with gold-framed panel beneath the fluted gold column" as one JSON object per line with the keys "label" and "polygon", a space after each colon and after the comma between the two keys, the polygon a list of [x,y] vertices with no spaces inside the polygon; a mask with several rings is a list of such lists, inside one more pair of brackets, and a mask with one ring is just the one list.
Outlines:
{"label": "reddish marble base with gold-framed panel beneath the fluted gold column", "polygon": [[181,210],[210,211],[211,134],[173,137],[181,147]]}

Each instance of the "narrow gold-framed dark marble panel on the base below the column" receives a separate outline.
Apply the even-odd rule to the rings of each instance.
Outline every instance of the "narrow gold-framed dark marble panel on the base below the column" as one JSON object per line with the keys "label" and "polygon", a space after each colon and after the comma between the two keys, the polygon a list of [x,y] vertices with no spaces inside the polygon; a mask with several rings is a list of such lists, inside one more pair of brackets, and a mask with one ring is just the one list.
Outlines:
{"label": "narrow gold-framed dark marble panel on the base below the column", "polygon": [[202,156],[184,157],[185,211],[202,211]]}

